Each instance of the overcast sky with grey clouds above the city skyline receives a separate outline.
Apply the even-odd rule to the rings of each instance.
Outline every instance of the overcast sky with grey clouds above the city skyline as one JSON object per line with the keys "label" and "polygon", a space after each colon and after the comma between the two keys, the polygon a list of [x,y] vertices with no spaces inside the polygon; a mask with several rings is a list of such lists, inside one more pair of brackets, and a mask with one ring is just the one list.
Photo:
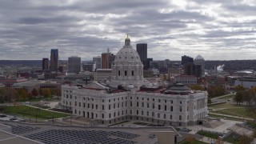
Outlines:
{"label": "overcast sky with grey clouds above the city skyline", "polygon": [[0,59],[91,60],[126,34],[154,60],[256,59],[256,0],[0,0]]}

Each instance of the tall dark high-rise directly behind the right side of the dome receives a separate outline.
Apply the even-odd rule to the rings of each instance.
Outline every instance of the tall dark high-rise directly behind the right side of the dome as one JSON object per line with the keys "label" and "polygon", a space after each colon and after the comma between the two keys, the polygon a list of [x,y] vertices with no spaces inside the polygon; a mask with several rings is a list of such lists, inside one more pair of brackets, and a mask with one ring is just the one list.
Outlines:
{"label": "tall dark high-rise directly behind the right side of the dome", "polygon": [[146,66],[146,59],[147,59],[147,44],[146,43],[138,43],[136,45],[136,51],[138,52],[139,57],[144,65],[144,70],[148,69],[149,67]]}

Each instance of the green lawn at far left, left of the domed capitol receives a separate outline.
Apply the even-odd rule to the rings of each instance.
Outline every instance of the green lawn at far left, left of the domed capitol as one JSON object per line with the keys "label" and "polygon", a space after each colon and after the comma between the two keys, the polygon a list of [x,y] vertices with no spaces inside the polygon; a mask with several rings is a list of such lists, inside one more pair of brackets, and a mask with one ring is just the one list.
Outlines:
{"label": "green lawn at far left, left of the domed capitol", "polygon": [[61,114],[56,112],[51,112],[48,110],[40,110],[30,106],[0,106],[0,113],[13,114],[26,118],[39,118],[39,119],[49,119],[49,118],[62,118],[69,116],[70,114]]}

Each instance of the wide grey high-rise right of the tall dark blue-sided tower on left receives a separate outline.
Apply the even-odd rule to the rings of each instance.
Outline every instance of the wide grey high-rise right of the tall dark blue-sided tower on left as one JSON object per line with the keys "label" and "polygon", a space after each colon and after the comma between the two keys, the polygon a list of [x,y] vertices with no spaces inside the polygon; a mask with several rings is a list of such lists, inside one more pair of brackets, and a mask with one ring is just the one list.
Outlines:
{"label": "wide grey high-rise right of the tall dark blue-sided tower on left", "polygon": [[81,58],[80,57],[70,57],[69,58],[69,73],[79,73],[81,71]]}

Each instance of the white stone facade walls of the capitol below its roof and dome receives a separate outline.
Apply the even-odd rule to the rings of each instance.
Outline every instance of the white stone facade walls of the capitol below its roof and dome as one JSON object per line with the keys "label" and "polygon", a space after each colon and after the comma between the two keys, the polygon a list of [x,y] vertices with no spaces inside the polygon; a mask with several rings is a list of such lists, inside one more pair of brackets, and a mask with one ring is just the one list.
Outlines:
{"label": "white stone facade walls of the capitol below its roof and dome", "polygon": [[140,120],[173,126],[194,125],[207,115],[207,93],[158,94],[128,91],[107,94],[62,86],[62,104],[74,115],[93,118],[100,124]]}

